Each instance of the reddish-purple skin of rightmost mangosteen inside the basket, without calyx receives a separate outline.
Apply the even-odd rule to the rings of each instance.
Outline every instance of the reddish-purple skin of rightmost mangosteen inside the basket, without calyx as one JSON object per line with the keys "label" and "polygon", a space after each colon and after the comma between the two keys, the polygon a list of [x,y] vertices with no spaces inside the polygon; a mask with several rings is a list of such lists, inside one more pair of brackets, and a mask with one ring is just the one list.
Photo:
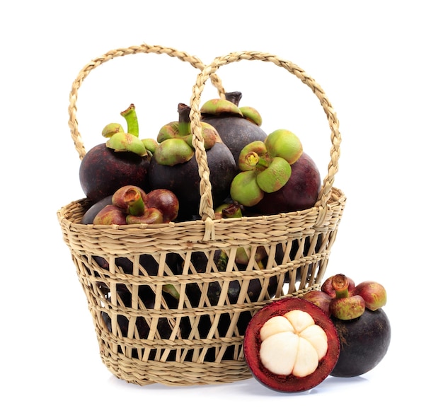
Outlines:
{"label": "reddish-purple skin of rightmost mangosteen inside the basket, without calyx", "polygon": [[278,214],[310,209],[316,204],[320,192],[321,179],[313,160],[303,153],[291,165],[289,181],[276,192],[266,193],[263,199],[253,206],[258,214]]}

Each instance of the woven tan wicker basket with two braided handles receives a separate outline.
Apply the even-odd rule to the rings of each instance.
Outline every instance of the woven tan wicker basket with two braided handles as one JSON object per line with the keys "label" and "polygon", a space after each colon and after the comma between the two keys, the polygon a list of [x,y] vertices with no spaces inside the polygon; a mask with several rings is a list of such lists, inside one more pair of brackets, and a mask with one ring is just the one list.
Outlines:
{"label": "woven tan wicker basket with two braided handles", "polygon": [[[216,384],[250,378],[243,358],[243,334],[252,315],[272,300],[300,296],[321,285],[346,200],[333,187],[340,155],[338,120],[320,86],[298,66],[272,54],[239,52],[204,66],[175,49],[142,45],[108,52],[85,66],[74,81],[69,125],[81,158],[85,149],[75,115],[77,89],[96,66],[139,52],[168,54],[200,70],[192,89],[190,115],[201,177],[201,220],[103,227],[79,223],[90,205],[87,199],[59,209],[63,238],[86,294],[100,356],[117,378],[139,385]],[[200,95],[208,78],[224,95],[216,71],[242,59],[284,67],[311,88],[326,112],[331,159],[318,202],[311,209],[214,218],[201,139]],[[250,252],[245,267],[235,263],[238,247]],[[267,254],[264,267],[255,262],[259,248]],[[222,251],[227,256],[226,269],[219,271],[213,259]],[[146,260],[154,263],[154,274],[146,269]],[[165,285],[175,286],[180,298],[165,293]]]}

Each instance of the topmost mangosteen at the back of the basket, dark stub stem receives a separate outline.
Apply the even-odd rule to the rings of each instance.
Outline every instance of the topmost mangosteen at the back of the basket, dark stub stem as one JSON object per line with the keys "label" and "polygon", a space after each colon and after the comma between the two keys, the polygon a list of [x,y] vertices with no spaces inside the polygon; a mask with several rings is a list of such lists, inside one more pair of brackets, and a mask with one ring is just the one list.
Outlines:
{"label": "topmost mangosteen at the back of the basket, dark stub stem", "polygon": [[225,99],[217,98],[204,103],[200,109],[202,122],[214,127],[228,146],[238,165],[241,149],[252,141],[264,141],[266,133],[260,128],[262,119],[252,107],[238,107],[241,92],[229,92]]}

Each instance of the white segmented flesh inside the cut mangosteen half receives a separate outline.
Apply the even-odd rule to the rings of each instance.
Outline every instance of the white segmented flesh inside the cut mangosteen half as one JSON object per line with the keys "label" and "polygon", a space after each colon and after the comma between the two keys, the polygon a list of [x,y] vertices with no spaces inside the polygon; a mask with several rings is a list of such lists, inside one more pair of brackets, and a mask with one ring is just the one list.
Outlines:
{"label": "white segmented flesh inside the cut mangosteen half", "polygon": [[260,329],[260,361],[276,375],[310,375],[328,351],[326,332],[309,313],[291,310]]}

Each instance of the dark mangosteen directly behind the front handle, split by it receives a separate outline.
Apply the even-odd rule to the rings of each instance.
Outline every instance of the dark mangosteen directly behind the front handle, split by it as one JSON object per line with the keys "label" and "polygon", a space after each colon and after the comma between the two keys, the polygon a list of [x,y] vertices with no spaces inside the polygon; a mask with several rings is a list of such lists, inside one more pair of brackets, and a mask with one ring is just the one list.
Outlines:
{"label": "dark mangosteen directly behind the front handle, split by it", "polygon": [[[190,107],[179,104],[178,122],[166,124],[159,132],[159,145],[149,165],[151,189],[169,189],[178,198],[178,221],[192,220],[200,209],[200,172],[190,134]],[[203,123],[202,123],[203,124]],[[172,126],[172,129],[171,129]],[[236,163],[229,148],[222,142],[213,127],[202,130],[205,140],[207,166],[213,206],[229,197],[231,181],[236,174]],[[169,135],[169,136],[168,136]]]}

